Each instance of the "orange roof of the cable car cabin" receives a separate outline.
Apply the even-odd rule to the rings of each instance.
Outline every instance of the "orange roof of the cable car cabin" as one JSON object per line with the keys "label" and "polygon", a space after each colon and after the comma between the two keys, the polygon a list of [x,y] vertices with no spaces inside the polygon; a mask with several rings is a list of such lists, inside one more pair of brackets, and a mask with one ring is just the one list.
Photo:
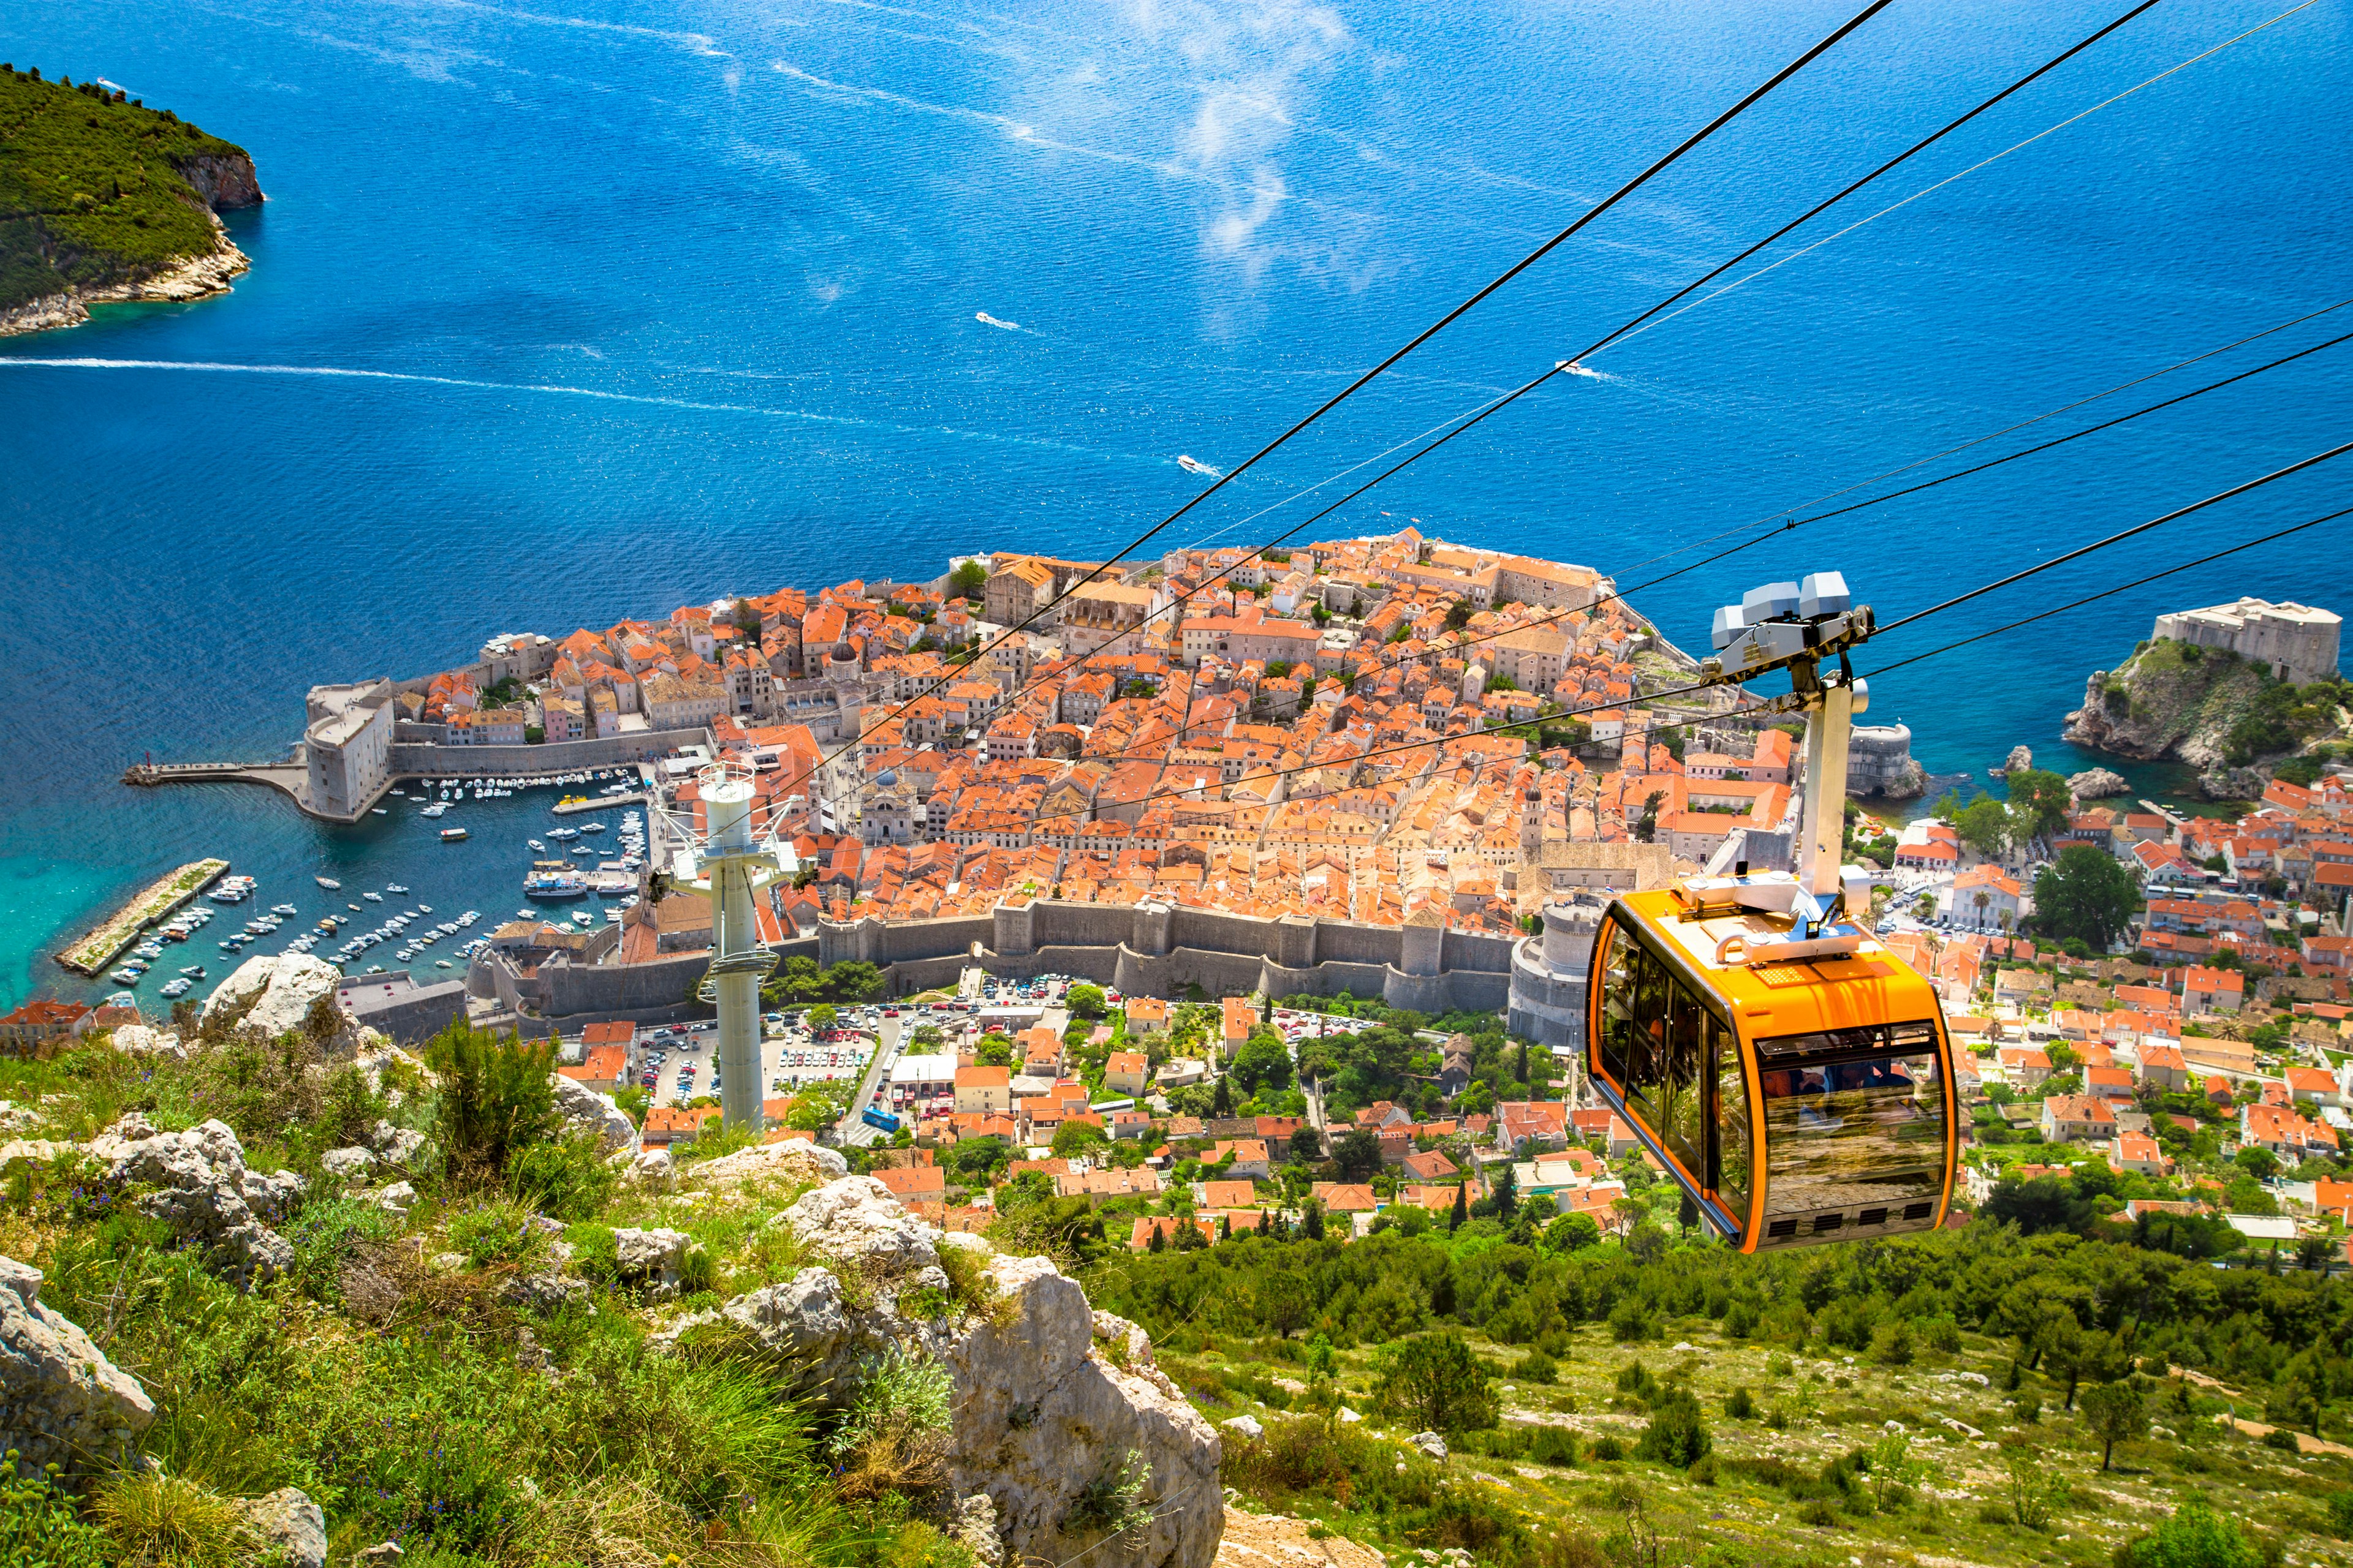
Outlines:
{"label": "orange roof of the cable car cabin", "polygon": [[1682,971],[1692,990],[1715,997],[1748,1039],[1866,1030],[1939,1016],[1934,987],[1868,936],[1852,954],[1718,964],[1715,950],[1722,938],[1779,936],[1788,931],[1788,917],[1739,910],[1687,919],[1689,905],[1675,889],[1619,893],[1617,903],[1638,917],[1647,945],[1671,969]]}

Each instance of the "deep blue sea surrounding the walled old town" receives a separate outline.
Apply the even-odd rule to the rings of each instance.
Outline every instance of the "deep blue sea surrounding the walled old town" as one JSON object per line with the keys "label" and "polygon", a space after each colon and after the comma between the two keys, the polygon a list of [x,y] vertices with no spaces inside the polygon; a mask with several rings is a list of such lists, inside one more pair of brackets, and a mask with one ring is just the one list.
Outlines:
{"label": "deep blue sea surrounding the walled old town", "polygon": [[[1308,536],[1417,520],[1640,583],[1697,559],[1661,552],[2353,296],[2346,0],[2261,26],[2292,2],[2167,0],[1725,282],[1819,249]],[[1899,0],[1148,550],[1271,536],[1306,503],[1254,512],[1577,353],[2120,9]],[[118,773],[278,755],[313,682],[445,668],[501,630],[925,578],[974,548],[1118,548],[1200,489],[1176,454],[1238,463],[1842,14],[0,7],[0,59],[174,108],[247,146],[271,197],[231,216],[254,261],[235,294],[0,343],[0,1004],[89,994],[56,945],[202,853],[306,922],[332,903],[320,872],[518,905],[520,839],[548,823],[532,797],[442,846],[409,813],[329,830],[259,790]],[[2346,327],[2353,310],[1972,456]],[[2327,350],[1635,602],[1701,646],[1715,604],[1838,567],[1887,621],[2346,440],[2348,367],[2353,346]],[[2348,501],[2353,458],[1859,665]],[[2153,614],[2242,592],[2353,611],[2346,541],[2315,529],[1911,665],[1875,682],[1873,717],[1908,722],[1937,771],[1984,776],[2017,743],[2085,766],[2061,719]]]}

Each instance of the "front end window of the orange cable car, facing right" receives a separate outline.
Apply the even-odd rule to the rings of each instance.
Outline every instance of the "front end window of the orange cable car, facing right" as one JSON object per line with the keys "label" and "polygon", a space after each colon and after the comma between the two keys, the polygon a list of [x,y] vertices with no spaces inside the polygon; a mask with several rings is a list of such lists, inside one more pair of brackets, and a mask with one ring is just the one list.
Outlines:
{"label": "front end window of the orange cable car, facing right", "polygon": [[1765,1213],[1937,1201],[1944,1084],[1934,1044],[1929,1023],[1760,1039]]}

